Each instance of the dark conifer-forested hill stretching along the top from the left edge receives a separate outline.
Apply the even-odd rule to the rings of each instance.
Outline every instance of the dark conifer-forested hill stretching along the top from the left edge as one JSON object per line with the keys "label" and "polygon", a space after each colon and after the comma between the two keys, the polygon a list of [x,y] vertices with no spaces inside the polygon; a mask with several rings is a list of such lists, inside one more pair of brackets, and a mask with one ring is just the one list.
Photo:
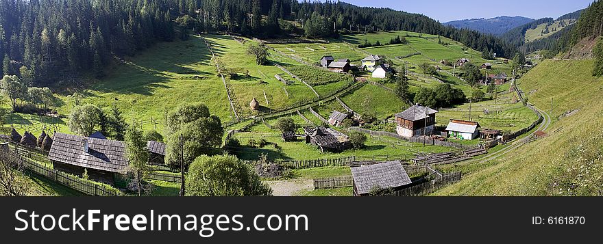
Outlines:
{"label": "dark conifer-forested hill stretching along the top from the left edge", "polygon": [[193,30],[330,38],[350,29],[430,33],[506,57],[517,50],[494,36],[447,27],[421,14],[332,1],[0,0],[0,71],[27,74],[31,85],[51,85],[77,81],[88,70],[102,77],[115,57],[187,38]]}

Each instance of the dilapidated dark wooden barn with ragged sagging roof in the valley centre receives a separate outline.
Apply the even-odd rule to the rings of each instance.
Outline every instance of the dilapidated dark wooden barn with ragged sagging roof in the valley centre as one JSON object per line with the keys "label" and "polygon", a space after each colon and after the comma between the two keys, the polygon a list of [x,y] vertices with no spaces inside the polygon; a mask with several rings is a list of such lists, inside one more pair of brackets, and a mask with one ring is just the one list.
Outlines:
{"label": "dilapidated dark wooden barn with ragged sagging roof in the valley centre", "polygon": [[320,148],[321,152],[341,152],[352,148],[347,135],[325,127],[306,127],[306,144]]}

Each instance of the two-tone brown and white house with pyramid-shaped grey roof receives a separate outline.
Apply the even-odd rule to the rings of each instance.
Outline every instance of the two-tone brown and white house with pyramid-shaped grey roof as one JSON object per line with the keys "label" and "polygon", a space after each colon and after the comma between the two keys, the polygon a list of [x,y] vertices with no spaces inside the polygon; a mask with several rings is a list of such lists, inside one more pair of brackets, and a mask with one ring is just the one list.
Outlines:
{"label": "two-tone brown and white house with pyramid-shaped grey roof", "polygon": [[432,133],[436,124],[437,112],[429,107],[415,105],[402,113],[395,114],[396,133],[402,137]]}

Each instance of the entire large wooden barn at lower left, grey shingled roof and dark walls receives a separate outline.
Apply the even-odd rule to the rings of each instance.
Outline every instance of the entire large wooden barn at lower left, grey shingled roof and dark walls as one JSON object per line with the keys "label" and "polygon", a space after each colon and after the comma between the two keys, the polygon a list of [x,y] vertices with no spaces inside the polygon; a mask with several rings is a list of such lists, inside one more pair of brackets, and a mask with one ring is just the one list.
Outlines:
{"label": "entire large wooden barn at lower left, grey shingled roof and dark walls", "polygon": [[56,170],[110,185],[125,185],[127,157],[123,141],[56,133],[48,154]]}

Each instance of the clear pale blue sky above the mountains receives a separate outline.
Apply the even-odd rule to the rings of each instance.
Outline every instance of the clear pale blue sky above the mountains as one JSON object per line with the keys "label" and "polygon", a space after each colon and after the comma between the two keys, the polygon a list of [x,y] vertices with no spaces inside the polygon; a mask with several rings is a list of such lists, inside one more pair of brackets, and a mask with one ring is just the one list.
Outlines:
{"label": "clear pale blue sky above the mountains", "polygon": [[557,18],[582,8],[593,0],[343,0],[366,7],[383,7],[404,12],[424,14],[441,23],[467,18],[524,16],[528,18]]}

